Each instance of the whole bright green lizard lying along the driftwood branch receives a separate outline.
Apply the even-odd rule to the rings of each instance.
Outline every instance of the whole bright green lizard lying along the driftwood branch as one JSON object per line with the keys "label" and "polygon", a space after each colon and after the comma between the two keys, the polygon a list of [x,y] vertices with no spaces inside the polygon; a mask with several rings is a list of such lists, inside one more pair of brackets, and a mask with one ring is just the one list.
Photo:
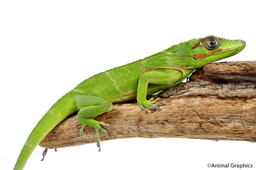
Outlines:
{"label": "whole bright green lizard lying along the driftwood branch", "polygon": [[158,109],[160,98],[146,100],[147,95],[175,86],[186,79],[196,68],[238,54],[246,43],[215,36],[192,39],[141,60],[116,67],[84,80],[62,96],[41,118],[29,135],[14,169],[23,169],[39,142],[64,118],[78,112],[82,124],[80,137],[86,125],[96,129],[100,151],[99,130],[107,133],[94,118],[112,109],[112,103],[137,98],[139,107],[146,112]]}

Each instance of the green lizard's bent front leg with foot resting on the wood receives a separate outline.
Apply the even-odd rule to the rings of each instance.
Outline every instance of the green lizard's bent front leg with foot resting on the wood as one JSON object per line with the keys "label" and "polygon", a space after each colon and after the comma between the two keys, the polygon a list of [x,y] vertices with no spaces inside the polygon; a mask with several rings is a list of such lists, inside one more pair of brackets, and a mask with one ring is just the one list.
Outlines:
{"label": "green lizard's bent front leg with foot resting on the wood", "polygon": [[[159,104],[161,104],[156,104],[156,101],[160,100],[160,98],[157,98],[156,100],[154,100],[153,98],[151,98],[150,100],[146,100],[148,83],[172,87],[178,81],[180,81],[182,76],[182,72],[176,69],[156,69],[142,74],[139,78],[137,90],[137,101],[140,108],[146,112],[144,107],[148,109],[155,109]],[[159,86],[158,88],[159,91],[162,90],[162,86]]]}

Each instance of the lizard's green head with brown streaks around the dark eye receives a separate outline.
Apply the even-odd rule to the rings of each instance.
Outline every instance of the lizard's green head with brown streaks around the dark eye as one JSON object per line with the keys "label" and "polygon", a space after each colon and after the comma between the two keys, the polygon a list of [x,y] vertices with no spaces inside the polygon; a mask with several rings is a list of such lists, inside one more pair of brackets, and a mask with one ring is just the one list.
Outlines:
{"label": "lizard's green head with brown streaks around the dark eye", "polygon": [[229,40],[216,36],[193,39],[186,42],[190,57],[195,62],[195,68],[215,62],[241,52],[246,46],[243,40]]}

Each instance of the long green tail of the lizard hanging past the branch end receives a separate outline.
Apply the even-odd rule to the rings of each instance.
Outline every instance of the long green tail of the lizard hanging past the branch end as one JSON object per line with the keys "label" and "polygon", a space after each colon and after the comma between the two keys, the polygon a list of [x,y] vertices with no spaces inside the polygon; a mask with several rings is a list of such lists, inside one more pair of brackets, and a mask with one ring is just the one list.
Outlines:
{"label": "long green tail of the lizard hanging past the branch end", "polygon": [[63,119],[75,112],[74,93],[69,92],[59,99],[50,110],[41,118],[30,133],[14,169],[23,169],[30,155],[42,139]]}

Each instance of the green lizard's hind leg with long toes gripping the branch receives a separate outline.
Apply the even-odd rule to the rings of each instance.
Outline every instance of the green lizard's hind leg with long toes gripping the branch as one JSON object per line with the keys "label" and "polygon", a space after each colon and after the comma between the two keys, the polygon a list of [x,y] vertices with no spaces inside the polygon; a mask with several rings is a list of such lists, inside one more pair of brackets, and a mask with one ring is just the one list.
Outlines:
{"label": "green lizard's hind leg with long toes gripping the branch", "polygon": [[97,147],[99,147],[100,151],[99,129],[102,133],[107,134],[108,132],[101,126],[109,125],[103,122],[98,122],[93,118],[104,112],[110,111],[112,109],[112,103],[96,96],[79,95],[76,98],[76,105],[79,109],[77,120],[82,124],[82,128],[80,130],[80,139],[83,135],[84,126],[88,125],[94,127],[97,134]]}

